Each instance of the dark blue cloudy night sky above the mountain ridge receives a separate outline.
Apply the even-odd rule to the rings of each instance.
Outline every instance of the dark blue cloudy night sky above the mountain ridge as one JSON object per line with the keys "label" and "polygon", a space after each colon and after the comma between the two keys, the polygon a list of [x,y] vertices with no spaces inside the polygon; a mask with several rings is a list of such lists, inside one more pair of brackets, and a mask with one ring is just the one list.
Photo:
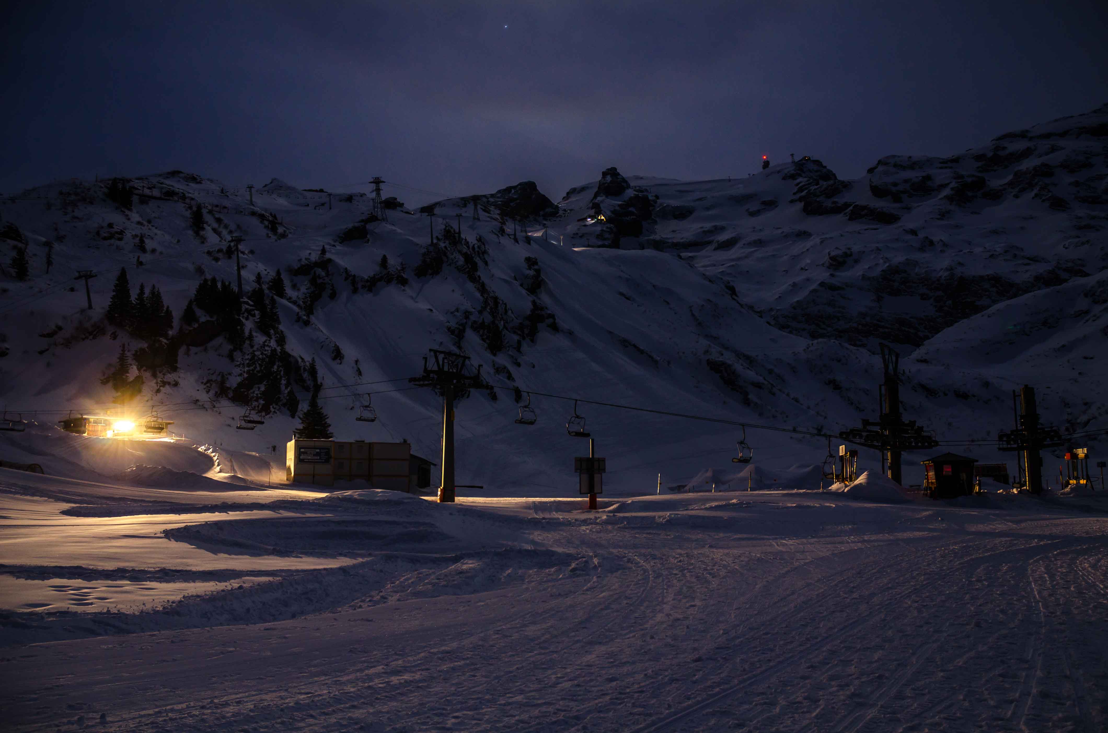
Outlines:
{"label": "dark blue cloudy night sky above the mountain ridge", "polygon": [[856,177],[1108,102],[1084,0],[2,4],[3,194],[182,168],[557,200],[789,153]]}

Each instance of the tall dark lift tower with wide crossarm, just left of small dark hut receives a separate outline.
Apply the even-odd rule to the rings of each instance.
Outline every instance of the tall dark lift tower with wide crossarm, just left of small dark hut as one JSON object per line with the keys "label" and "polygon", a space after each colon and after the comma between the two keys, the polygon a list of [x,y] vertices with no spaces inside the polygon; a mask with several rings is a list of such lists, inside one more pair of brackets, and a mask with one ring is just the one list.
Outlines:
{"label": "tall dark lift tower with wide crossarm, just left of small dark hut", "polygon": [[897,484],[902,483],[901,455],[904,451],[924,451],[938,445],[935,437],[904,420],[900,410],[900,354],[889,344],[881,344],[881,363],[885,381],[879,389],[881,415],[876,421],[863,420],[861,427],[839,433],[839,437],[881,451],[881,469]]}

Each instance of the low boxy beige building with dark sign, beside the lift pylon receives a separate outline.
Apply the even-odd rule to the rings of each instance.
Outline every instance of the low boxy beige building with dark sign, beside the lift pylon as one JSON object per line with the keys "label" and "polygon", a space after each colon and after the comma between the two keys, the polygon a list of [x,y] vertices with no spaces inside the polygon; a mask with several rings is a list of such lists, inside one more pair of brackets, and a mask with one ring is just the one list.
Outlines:
{"label": "low boxy beige building with dark sign, beside the lift pylon", "polygon": [[294,438],[285,456],[286,477],[295,484],[334,486],[360,479],[396,492],[430,486],[433,465],[412,455],[410,443]]}

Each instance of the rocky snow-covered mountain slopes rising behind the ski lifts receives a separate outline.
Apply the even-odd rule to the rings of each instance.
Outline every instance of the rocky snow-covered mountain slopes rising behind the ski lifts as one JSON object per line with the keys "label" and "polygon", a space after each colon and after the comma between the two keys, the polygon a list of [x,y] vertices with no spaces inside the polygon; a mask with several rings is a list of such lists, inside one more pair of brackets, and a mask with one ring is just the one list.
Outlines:
{"label": "rocky snow-covered mountain slopes rising behind the ski lifts", "polygon": [[[420,209],[392,199],[387,221],[362,193],[277,178],[253,194],[182,172],[41,186],[0,205],[0,400],[42,423],[101,411],[115,394],[101,379],[125,343],[144,365],[135,411],[160,405],[175,432],[205,443],[280,451],[315,358],[336,437],[407,438],[437,460],[441,404],[403,380],[429,348],[460,349],[505,389],[459,404],[459,482],[506,494],[573,493],[571,458],[587,450],[564,429],[572,401],[534,396],[538,423],[514,424],[513,386],[838,432],[876,416],[879,341],[902,353],[906,415],[940,438],[1010,427],[1009,391],[1023,383],[1040,388],[1046,422],[1104,424],[1094,376],[1108,358],[1108,105],[958,156],[889,156],[856,180],[815,157],[731,180],[609,168],[556,205],[526,182]],[[197,291],[237,287],[235,236],[242,320],[208,286]],[[161,341],[105,319],[122,267],[132,291],[156,286],[172,311]],[[92,311],[81,270],[96,275]],[[355,422],[370,391],[381,420]],[[236,431],[243,406],[213,400],[267,422]],[[577,411],[608,457],[609,491],[726,468],[741,437]],[[788,433],[747,440],[769,468],[827,453]],[[876,463],[866,453],[863,467]],[[922,457],[906,456],[909,481]]]}

